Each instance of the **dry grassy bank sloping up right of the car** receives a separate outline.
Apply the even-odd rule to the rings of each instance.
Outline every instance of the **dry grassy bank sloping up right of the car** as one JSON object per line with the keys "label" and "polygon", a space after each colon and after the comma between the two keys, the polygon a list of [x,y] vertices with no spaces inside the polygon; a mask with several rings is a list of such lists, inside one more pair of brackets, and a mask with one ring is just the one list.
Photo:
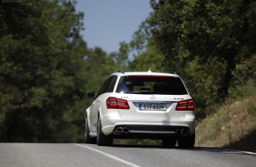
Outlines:
{"label": "dry grassy bank sloping up right of the car", "polygon": [[256,151],[256,84],[249,81],[196,127],[196,145]]}

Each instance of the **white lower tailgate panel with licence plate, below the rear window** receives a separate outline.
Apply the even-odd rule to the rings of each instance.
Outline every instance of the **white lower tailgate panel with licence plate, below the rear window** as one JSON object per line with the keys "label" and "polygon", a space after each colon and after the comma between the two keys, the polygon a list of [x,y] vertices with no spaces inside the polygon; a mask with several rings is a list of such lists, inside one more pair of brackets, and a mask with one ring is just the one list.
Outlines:
{"label": "white lower tailgate panel with licence plate, below the rear window", "polygon": [[117,98],[125,98],[130,110],[118,109],[123,119],[134,120],[184,120],[185,112],[176,111],[177,100],[188,99],[188,96],[168,95],[124,95],[117,94]]}

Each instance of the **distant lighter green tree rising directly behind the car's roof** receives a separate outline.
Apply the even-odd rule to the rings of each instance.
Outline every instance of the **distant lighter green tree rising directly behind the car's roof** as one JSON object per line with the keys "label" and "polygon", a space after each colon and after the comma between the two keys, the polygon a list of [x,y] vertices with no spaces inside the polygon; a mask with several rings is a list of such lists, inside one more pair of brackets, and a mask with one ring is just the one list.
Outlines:
{"label": "distant lighter green tree rising directly behind the car's roof", "polygon": [[110,57],[116,63],[116,69],[124,71],[152,71],[164,72],[163,54],[150,42],[151,34],[148,25],[143,21],[138,31],[133,33],[132,40],[120,42],[119,52],[111,53]]}

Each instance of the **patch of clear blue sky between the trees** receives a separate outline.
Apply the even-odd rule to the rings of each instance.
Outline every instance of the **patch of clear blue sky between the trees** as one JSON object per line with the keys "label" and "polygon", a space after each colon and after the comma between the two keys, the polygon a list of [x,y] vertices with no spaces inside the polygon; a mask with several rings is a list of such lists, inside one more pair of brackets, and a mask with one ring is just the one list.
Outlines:
{"label": "patch of clear blue sky between the trees", "polygon": [[81,32],[87,47],[117,52],[119,43],[132,40],[132,34],[153,10],[150,0],[78,0],[76,10],[84,12]]}

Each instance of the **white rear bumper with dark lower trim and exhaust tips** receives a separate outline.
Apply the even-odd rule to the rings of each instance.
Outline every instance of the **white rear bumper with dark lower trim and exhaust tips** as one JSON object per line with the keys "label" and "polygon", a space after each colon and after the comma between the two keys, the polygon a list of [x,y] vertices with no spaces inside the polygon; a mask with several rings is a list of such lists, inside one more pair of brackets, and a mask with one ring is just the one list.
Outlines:
{"label": "white rear bumper with dark lower trim and exhaust tips", "polygon": [[[117,115],[116,115],[117,116]],[[158,139],[170,136],[187,136],[194,133],[195,117],[189,114],[184,120],[134,120],[121,119],[118,115],[102,118],[103,134],[115,138]]]}

